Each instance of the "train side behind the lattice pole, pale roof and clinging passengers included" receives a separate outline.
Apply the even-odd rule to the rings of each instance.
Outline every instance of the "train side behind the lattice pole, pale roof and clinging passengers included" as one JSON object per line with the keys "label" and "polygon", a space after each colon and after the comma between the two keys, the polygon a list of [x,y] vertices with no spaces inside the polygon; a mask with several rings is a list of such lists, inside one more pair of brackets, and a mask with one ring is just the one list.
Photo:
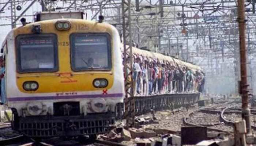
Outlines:
{"label": "train side behind the lattice pole, pale roof and clinging passengers included", "polygon": [[[152,95],[152,88],[156,88],[156,86],[160,86],[161,88],[157,89],[157,95],[177,92],[203,92],[205,74],[200,66],[182,61],[175,57],[138,49],[136,47],[131,47],[131,49],[133,75],[129,74],[128,80],[131,80],[130,78],[132,77],[134,82],[133,88],[139,85],[142,86],[141,91],[143,91],[143,93],[138,93],[140,89],[139,91],[138,88],[133,89],[134,96],[150,96]],[[121,50],[123,52],[123,45],[121,46]],[[137,65],[140,70],[137,76],[135,76],[137,73],[134,73],[138,72],[138,68],[135,69],[136,60],[139,60]],[[154,75],[152,74],[152,69],[154,69]],[[159,77],[159,75],[161,76]],[[160,80],[160,84],[158,80]],[[175,91],[174,88],[176,88]],[[135,93],[136,90],[137,93]]]}

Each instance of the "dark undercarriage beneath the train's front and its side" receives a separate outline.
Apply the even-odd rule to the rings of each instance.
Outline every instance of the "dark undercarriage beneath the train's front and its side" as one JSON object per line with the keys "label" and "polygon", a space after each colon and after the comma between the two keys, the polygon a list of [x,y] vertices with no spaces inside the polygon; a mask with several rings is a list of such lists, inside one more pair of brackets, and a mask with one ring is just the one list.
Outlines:
{"label": "dark undercarriage beneath the train's front and its side", "polygon": [[[135,98],[136,115],[141,115],[151,110],[172,109],[196,103],[200,93],[176,93],[153,95]],[[71,116],[26,116],[19,117],[15,109],[13,128],[28,137],[74,137],[89,135],[95,137],[111,130],[115,119],[124,118],[124,104],[116,106],[116,113],[100,113]],[[15,114],[16,113],[16,114]]]}

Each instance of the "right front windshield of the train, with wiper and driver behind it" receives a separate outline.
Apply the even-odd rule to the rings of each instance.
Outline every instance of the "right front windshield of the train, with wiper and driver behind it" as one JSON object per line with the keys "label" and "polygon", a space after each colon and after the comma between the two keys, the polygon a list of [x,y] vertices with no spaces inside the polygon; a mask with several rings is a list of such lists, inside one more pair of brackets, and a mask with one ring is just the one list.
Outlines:
{"label": "right front windshield of the train, with wiper and driver behind it", "polygon": [[71,35],[72,70],[110,70],[110,36],[106,33]]}

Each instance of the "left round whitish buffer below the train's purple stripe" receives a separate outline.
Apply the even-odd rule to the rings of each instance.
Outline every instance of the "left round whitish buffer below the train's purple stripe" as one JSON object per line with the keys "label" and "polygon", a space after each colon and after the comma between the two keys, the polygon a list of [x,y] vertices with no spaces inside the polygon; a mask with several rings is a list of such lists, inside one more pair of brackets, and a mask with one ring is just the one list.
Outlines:
{"label": "left round whitish buffer below the train's purple stripe", "polygon": [[43,104],[40,102],[28,103],[27,112],[32,116],[40,115],[43,112]]}

